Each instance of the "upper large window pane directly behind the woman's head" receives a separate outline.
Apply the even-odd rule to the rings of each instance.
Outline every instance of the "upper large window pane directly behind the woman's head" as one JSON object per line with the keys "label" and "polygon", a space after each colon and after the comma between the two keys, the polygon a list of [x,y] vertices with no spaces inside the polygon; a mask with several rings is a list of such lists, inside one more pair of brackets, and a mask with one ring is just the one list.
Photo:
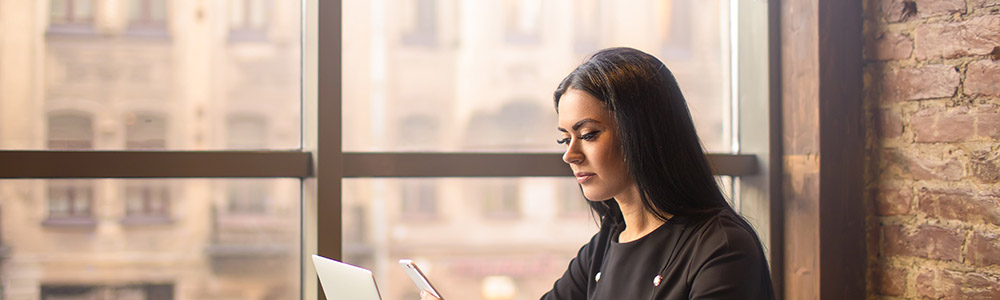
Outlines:
{"label": "upper large window pane directly behind the woman's head", "polygon": [[559,151],[552,91],[598,49],[674,72],[729,152],[728,1],[345,0],[345,151]]}

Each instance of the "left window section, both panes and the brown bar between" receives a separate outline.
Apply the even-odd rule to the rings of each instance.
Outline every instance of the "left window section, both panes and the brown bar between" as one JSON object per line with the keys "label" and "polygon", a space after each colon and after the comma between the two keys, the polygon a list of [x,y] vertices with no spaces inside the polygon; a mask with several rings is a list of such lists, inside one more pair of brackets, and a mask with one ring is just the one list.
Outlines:
{"label": "left window section, both panes and the brown bar between", "polygon": [[[228,0],[15,2],[0,235],[18,251],[0,278],[20,279],[0,298],[301,298],[304,3],[234,3],[231,23]],[[268,35],[234,45],[230,28]],[[91,35],[53,34],[70,31]]]}

